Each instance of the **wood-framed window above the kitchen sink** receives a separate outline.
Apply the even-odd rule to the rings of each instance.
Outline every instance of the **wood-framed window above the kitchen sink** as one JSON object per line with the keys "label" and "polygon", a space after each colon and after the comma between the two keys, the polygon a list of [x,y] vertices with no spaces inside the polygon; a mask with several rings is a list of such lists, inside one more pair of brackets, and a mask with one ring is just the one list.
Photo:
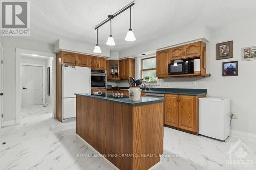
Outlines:
{"label": "wood-framed window above the kitchen sink", "polygon": [[141,59],[141,78],[143,82],[157,82],[157,58]]}

